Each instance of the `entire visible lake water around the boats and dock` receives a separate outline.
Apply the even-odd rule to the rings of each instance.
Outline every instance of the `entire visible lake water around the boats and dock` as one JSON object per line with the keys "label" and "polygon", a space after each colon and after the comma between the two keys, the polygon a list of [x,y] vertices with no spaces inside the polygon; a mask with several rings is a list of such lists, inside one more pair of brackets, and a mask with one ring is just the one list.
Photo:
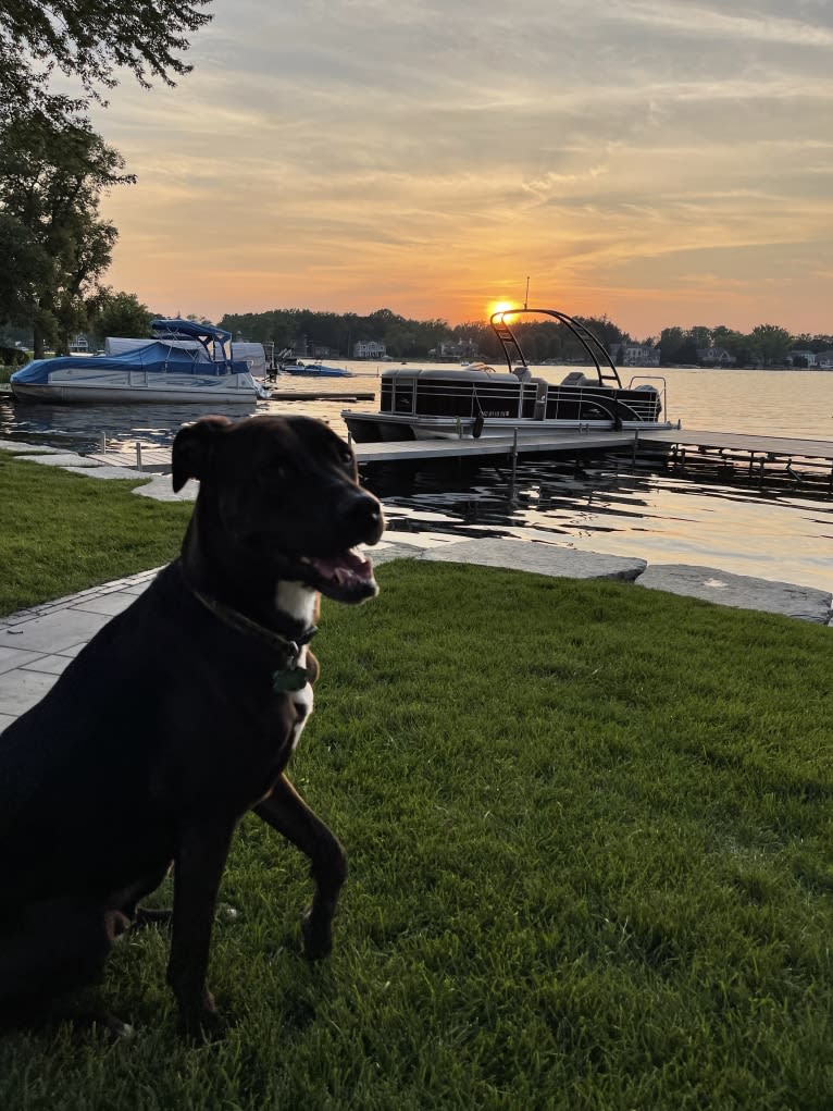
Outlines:
{"label": "entire visible lake water around the boats and dock", "polygon": [[[535,373],[560,381],[563,367]],[[649,373],[649,372],[645,372]],[[833,373],[813,371],[662,370],[666,414],[690,429],[756,432],[833,441]],[[624,377],[624,376],[623,376]],[[281,392],[374,391],[378,373],[349,379],[279,380]],[[298,412],[320,417],[341,434],[340,411],[355,403],[270,401],[251,412]],[[242,411],[241,411],[242,410]],[[233,407],[231,416],[244,416]],[[136,443],[170,444],[180,423],[199,412],[188,406],[42,407],[0,399],[0,438],[22,439],[77,451],[109,448],[134,454]],[[739,574],[833,591],[833,501],[784,483],[744,483],[719,474],[683,478],[663,467],[633,470],[612,457],[573,464],[522,461],[510,489],[505,469],[490,464],[473,476],[455,466],[403,476],[389,469],[369,484],[385,504],[391,532],[421,542],[433,538],[522,537],[551,543],[638,556],[652,563],[695,563]]]}

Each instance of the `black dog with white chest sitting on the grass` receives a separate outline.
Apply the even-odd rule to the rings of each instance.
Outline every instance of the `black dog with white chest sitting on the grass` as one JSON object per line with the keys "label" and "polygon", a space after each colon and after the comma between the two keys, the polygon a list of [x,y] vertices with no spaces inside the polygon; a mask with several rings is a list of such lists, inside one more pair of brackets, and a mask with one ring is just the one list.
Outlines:
{"label": "black dog with white chest sitting on the grass", "polygon": [[320,421],[207,417],[173,444],[200,481],[179,559],[0,737],[0,1017],[93,982],[173,870],[168,981],[190,1035],[218,887],[249,810],[312,862],[304,949],[331,948],[344,853],[283,774],[312,709],[320,593],[361,602],[384,522]]}

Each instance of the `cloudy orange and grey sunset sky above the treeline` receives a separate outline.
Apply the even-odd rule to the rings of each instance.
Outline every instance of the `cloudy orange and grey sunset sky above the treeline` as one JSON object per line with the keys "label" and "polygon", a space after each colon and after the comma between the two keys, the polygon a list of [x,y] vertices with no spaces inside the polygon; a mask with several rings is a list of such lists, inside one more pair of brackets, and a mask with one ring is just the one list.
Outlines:
{"label": "cloudy orange and grey sunset sky above the treeline", "polygon": [[152,310],[833,332],[832,0],[215,0],[93,122]]}

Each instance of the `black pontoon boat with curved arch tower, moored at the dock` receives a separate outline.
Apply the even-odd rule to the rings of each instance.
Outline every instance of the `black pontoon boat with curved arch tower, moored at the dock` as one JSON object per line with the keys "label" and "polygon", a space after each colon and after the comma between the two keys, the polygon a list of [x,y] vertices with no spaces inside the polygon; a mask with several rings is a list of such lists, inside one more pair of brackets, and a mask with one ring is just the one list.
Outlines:
{"label": "black pontoon boat with curved arch tower, moored at the dock", "polygon": [[[552,383],[532,374],[508,317],[550,317],[581,343],[595,368],[572,370]],[[506,360],[491,367],[408,368],[381,376],[378,412],[341,412],[357,443],[400,440],[538,436],[559,430],[671,428],[661,414],[665,381],[635,376],[623,386],[602,341],[583,323],[556,309],[511,309],[491,317]]]}

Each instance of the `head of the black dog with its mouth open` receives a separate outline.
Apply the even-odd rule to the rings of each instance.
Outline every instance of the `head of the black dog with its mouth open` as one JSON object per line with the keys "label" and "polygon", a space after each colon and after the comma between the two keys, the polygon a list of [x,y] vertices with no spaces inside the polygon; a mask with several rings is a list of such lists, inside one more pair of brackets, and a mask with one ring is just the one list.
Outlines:
{"label": "head of the black dog with its mouth open", "polygon": [[384,530],[352,449],[309,417],[203,417],[173,442],[173,489],[200,482],[201,543],[239,574],[301,582],[341,602],[378,592],[355,550]]}

